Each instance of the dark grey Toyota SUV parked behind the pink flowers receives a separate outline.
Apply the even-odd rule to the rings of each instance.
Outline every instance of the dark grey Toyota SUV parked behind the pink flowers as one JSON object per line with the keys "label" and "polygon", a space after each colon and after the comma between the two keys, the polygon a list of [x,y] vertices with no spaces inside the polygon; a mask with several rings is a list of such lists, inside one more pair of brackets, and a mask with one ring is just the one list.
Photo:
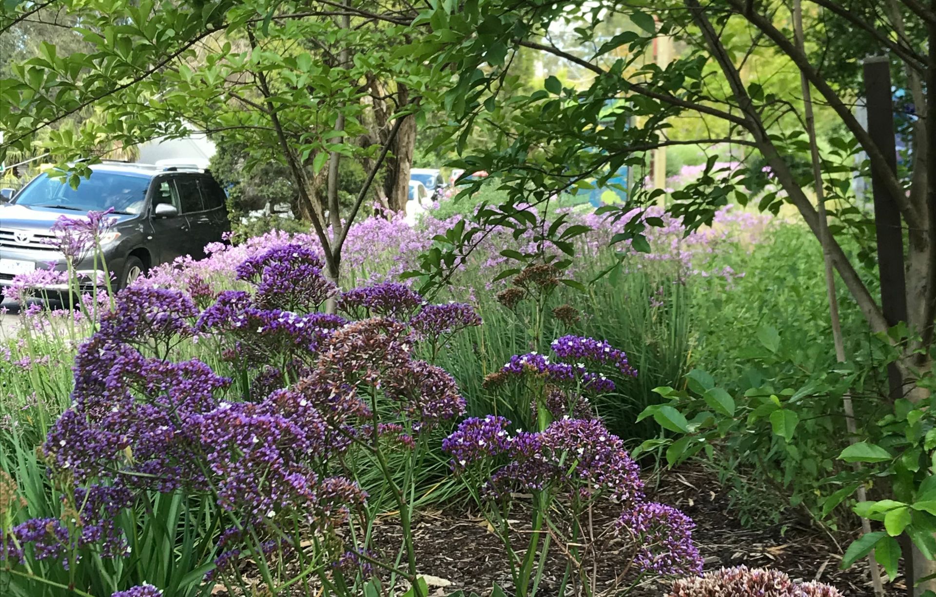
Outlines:
{"label": "dark grey Toyota SUV parked behind the pink flowers", "polygon": [[[230,230],[225,199],[211,174],[194,167],[107,162],[91,167],[77,189],[41,174],[15,195],[0,190],[0,285],[33,269],[66,269],[52,246],[59,216],[112,209],[116,222],[101,245],[112,284],[123,288],[180,255],[204,256],[205,245]],[[76,268],[89,281],[102,279],[92,256]]]}

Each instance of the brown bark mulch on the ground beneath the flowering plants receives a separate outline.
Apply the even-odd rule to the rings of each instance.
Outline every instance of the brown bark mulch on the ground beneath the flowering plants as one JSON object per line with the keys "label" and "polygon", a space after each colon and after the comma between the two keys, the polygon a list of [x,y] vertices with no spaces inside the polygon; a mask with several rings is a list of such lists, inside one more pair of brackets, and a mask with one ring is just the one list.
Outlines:
{"label": "brown bark mulch on the ground beneath the flowering plants", "polygon": [[[839,569],[841,551],[826,532],[806,528],[790,520],[776,529],[746,529],[728,509],[729,496],[715,487],[710,473],[698,469],[682,469],[664,473],[653,498],[674,505],[695,520],[696,545],[705,559],[707,570],[722,566],[745,564],[749,567],[771,567],[785,571],[794,579],[819,580],[837,587],[851,597],[872,596],[870,575],[865,561],[852,569]],[[522,502],[522,501],[520,501]],[[616,513],[596,512],[594,527],[601,528]],[[529,518],[520,513],[513,527],[518,536],[529,531]],[[786,527],[781,535],[780,528]],[[441,579],[430,588],[431,594],[446,595],[454,590],[490,594],[494,582],[510,592],[509,571],[505,569],[505,550],[490,533],[487,522],[476,513],[452,511],[425,511],[414,521],[417,562],[420,573]],[[387,520],[375,529],[377,544],[399,545],[400,529]],[[840,540],[841,542],[841,540]],[[554,543],[553,546],[556,544]],[[550,561],[543,577],[540,593],[544,597],[556,595],[565,570],[565,560],[559,549],[550,548]],[[629,560],[622,549],[609,546],[602,554],[597,590],[615,587],[616,576],[621,574]],[[630,575],[625,575],[629,578]],[[626,587],[626,580],[619,587]],[[887,586],[887,596],[905,594],[902,579]],[[665,586],[654,583],[639,585],[632,595],[661,597]],[[558,597],[558,596],[557,596]]]}

